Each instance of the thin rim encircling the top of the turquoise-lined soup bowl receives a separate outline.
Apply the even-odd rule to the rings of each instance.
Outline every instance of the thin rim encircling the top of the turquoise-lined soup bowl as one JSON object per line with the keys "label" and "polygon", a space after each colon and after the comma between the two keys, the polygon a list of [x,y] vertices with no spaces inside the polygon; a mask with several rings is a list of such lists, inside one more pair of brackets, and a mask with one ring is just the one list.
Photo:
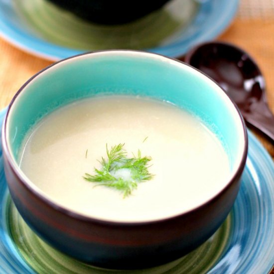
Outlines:
{"label": "thin rim encircling the top of the turquoise-lined soup bowl", "polygon": [[218,199],[219,196],[222,195],[222,193],[224,193],[230,186],[231,184],[237,180],[237,178],[242,174],[243,170],[244,170],[244,167],[245,167],[245,163],[246,163],[246,158],[247,158],[247,153],[248,153],[248,135],[247,135],[247,129],[246,129],[246,125],[245,125],[245,122],[244,122],[244,119],[238,109],[238,107],[236,106],[236,104],[226,95],[225,93],[225,96],[227,97],[227,99],[234,105],[235,109],[236,109],[236,112],[238,113],[239,115],[239,118],[240,118],[240,121],[241,121],[241,125],[242,125],[242,130],[243,130],[243,133],[244,133],[244,150],[243,150],[243,154],[242,154],[242,158],[241,158],[241,161],[240,161],[240,164],[237,168],[237,170],[234,172],[233,176],[231,177],[230,181],[222,188],[219,190],[218,193],[216,193],[213,197],[211,197],[209,200],[207,200],[205,203],[191,209],[191,210],[188,210],[186,212],[183,212],[183,213],[179,213],[177,215],[174,215],[174,216],[170,216],[170,217],[165,217],[165,218],[162,218],[162,219],[158,219],[158,220],[151,220],[151,221],[140,221],[140,222],[134,222],[134,221],[130,221],[130,222],[125,222],[125,221],[111,221],[111,220],[104,220],[104,219],[99,219],[99,218],[94,218],[94,217],[88,217],[86,215],[82,215],[80,213],[77,213],[77,212],[74,212],[74,211],[71,211],[63,206],[60,206],[60,205],[57,205],[56,203],[54,203],[53,201],[51,201],[50,199],[48,199],[47,197],[43,196],[42,194],[40,194],[39,192],[36,192],[25,180],[24,178],[21,176],[21,173],[22,171],[17,168],[14,163],[13,163],[13,160],[12,160],[12,156],[11,156],[11,153],[8,149],[8,146],[7,146],[7,143],[8,143],[8,140],[6,140],[6,121],[8,119],[8,115],[9,115],[9,111],[10,111],[10,108],[12,106],[12,104],[14,103],[14,101],[16,100],[17,96],[23,91],[23,89],[33,80],[35,79],[37,76],[39,76],[40,74],[42,74],[44,71],[50,69],[51,67],[61,63],[61,62],[64,62],[66,60],[70,60],[70,59],[74,59],[74,58],[77,58],[79,56],[83,56],[83,55],[91,55],[93,53],[100,53],[100,52],[139,52],[139,53],[147,53],[147,54],[150,54],[150,55],[156,55],[156,56],[161,56],[161,57],[164,57],[164,58],[167,58],[167,59],[170,59],[170,60],[173,60],[173,61],[176,61],[176,62],[179,62],[179,63],[182,63],[188,67],[191,67],[192,69],[198,71],[199,73],[203,74],[205,77],[209,78],[211,81],[213,81],[224,93],[224,89],[216,82],[214,81],[213,79],[211,79],[210,77],[208,77],[205,73],[199,71],[198,69],[192,67],[191,65],[185,63],[185,62],[182,62],[180,60],[177,60],[175,58],[171,58],[171,57],[167,57],[165,55],[162,55],[162,54],[157,54],[157,53],[152,53],[152,52],[148,52],[148,51],[142,51],[142,50],[128,50],[128,49],[111,49],[111,50],[97,50],[97,51],[91,51],[91,52],[85,52],[85,53],[81,53],[81,54],[77,54],[77,55],[73,55],[73,56],[70,56],[68,58],[65,58],[65,59],[62,59],[62,60],[59,60],[57,62],[54,62],[52,64],[50,64],[49,66],[43,68],[42,70],[40,70],[39,72],[37,72],[36,74],[34,74],[31,78],[29,78],[20,88],[19,90],[16,92],[16,94],[14,95],[14,97],[12,98],[9,106],[8,106],[8,109],[7,109],[7,113],[4,117],[4,120],[3,120],[3,125],[2,125],[2,149],[3,149],[3,153],[5,154],[6,158],[7,158],[7,161],[8,161],[8,164],[10,165],[12,171],[16,174],[16,176],[19,178],[20,180],[20,183],[23,184],[24,187],[26,187],[31,193],[33,193],[35,196],[37,196],[41,201],[43,201],[46,205],[48,205],[49,207],[53,208],[54,210],[57,210],[65,215],[67,215],[68,217],[70,218],[73,218],[75,220],[80,220],[80,221],[84,221],[84,222],[88,222],[88,223],[99,223],[99,224],[105,224],[105,225],[110,225],[110,226],[128,226],[128,227],[131,227],[131,226],[143,226],[143,225],[150,225],[150,224],[157,224],[157,223],[162,223],[162,222],[168,222],[168,221],[171,221],[171,220],[174,220],[174,219],[177,219],[177,218],[180,218],[182,216],[186,216],[188,214],[191,214],[193,212],[196,212],[198,211],[200,208],[203,208],[205,206],[207,206],[208,204],[214,202],[214,200]]}

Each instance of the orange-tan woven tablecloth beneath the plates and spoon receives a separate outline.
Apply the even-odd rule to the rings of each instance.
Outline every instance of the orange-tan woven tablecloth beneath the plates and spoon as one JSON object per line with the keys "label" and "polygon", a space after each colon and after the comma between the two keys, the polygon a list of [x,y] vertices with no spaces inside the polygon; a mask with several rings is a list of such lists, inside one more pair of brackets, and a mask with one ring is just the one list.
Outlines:
{"label": "orange-tan woven tablecloth beneath the plates and spoon", "polygon": [[[236,18],[216,40],[242,47],[258,62],[266,78],[267,98],[274,113],[273,34],[274,0],[240,0]],[[16,91],[32,75],[51,63],[25,53],[0,38],[0,109],[9,104]],[[254,133],[274,159],[274,143],[259,132]]]}

